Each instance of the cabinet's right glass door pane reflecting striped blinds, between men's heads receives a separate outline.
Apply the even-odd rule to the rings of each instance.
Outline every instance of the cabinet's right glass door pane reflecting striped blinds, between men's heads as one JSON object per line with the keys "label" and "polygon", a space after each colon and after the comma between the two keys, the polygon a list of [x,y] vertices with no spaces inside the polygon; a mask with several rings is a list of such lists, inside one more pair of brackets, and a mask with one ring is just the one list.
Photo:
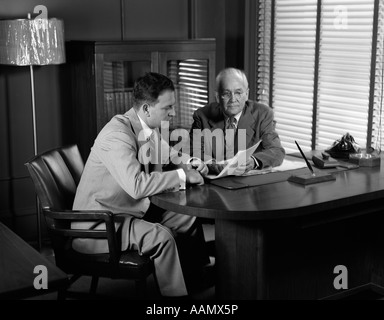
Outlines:
{"label": "cabinet's right glass door pane reflecting striped blinds, between men's heads", "polygon": [[168,76],[175,84],[176,116],[171,126],[189,129],[193,112],[208,103],[208,61],[198,59],[171,60]]}

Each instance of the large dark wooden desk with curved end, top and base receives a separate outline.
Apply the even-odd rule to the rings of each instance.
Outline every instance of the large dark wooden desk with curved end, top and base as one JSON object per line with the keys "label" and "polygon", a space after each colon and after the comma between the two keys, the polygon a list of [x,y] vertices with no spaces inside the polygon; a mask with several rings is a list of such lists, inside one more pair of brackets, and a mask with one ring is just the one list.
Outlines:
{"label": "large dark wooden desk with curved end, top and base", "polygon": [[[382,161],[383,162],[383,161]],[[216,295],[320,299],[384,286],[384,164],[302,186],[284,181],[238,190],[205,184],[153,196],[167,210],[215,219]],[[257,179],[257,176],[255,176]]]}

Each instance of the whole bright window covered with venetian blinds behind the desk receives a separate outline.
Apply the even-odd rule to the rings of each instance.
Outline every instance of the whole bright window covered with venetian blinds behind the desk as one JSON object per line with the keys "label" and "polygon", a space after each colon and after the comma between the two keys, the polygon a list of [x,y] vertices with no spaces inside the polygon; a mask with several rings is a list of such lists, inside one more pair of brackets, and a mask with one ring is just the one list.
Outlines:
{"label": "whole bright window covered with venetian blinds behind the desk", "polygon": [[378,0],[258,1],[256,98],[274,109],[287,153],[295,140],[323,150],[346,132],[383,148],[383,9]]}

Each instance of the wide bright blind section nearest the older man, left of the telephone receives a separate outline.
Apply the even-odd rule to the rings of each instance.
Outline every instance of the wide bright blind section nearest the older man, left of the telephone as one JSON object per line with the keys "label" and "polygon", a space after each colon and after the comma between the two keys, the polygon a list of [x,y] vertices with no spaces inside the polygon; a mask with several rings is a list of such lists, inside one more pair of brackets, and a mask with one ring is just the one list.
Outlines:
{"label": "wide bright blind section nearest the older man, left of the telephone", "polygon": [[311,148],[317,0],[276,0],[273,100],[287,153]]}

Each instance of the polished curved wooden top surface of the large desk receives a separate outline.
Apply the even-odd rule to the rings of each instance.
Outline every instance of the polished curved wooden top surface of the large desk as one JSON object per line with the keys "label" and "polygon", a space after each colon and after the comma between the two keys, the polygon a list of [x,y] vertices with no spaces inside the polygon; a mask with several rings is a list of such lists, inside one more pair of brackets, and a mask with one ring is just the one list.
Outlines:
{"label": "polished curved wooden top surface of the large desk", "polygon": [[[214,219],[261,220],[308,215],[384,197],[384,163],[333,173],[334,181],[289,181],[228,190],[205,184],[151,197],[159,207]],[[258,176],[254,176],[257,179]]]}

